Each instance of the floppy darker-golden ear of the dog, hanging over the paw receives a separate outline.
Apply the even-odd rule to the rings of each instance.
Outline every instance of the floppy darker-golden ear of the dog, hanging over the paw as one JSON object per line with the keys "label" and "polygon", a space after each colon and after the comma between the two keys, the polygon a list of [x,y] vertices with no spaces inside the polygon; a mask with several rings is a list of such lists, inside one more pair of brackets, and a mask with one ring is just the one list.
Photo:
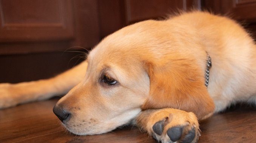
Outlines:
{"label": "floppy darker-golden ear of the dog, hanging over the paw", "polygon": [[145,62],[150,77],[150,95],[142,105],[191,111],[199,119],[213,113],[214,103],[205,87],[204,73],[191,59]]}

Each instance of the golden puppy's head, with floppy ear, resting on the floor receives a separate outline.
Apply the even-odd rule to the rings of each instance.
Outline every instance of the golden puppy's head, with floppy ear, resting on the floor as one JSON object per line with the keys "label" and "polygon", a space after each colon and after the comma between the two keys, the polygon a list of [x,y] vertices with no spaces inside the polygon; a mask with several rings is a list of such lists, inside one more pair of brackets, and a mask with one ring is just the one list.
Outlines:
{"label": "golden puppy's head, with floppy ear, resting on the floor", "polygon": [[210,113],[206,56],[200,48],[191,50],[200,45],[191,44],[190,36],[167,21],[152,20],[109,35],[89,53],[85,78],[60,99],[55,112],[79,135],[111,131],[148,108],[179,108],[199,117]]}

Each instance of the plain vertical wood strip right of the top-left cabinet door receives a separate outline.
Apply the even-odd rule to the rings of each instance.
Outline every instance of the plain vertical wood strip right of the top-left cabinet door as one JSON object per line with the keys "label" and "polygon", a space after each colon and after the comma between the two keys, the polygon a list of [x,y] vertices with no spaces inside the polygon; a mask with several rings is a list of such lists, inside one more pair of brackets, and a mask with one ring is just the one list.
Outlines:
{"label": "plain vertical wood strip right of the top-left cabinet door", "polygon": [[72,2],[75,39],[71,45],[91,49],[100,41],[98,3],[96,0],[72,0]]}

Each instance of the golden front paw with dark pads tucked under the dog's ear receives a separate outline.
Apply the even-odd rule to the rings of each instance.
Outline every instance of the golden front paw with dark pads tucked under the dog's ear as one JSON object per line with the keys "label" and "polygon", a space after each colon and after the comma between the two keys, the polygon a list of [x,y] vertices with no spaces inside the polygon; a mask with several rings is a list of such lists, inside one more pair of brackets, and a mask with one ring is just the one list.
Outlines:
{"label": "golden front paw with dark pads tucked under the dog's ear", "polygon": [[142,111],[136,125],[162,143],[195,143],[200,135],[196,115],[173,108]]}

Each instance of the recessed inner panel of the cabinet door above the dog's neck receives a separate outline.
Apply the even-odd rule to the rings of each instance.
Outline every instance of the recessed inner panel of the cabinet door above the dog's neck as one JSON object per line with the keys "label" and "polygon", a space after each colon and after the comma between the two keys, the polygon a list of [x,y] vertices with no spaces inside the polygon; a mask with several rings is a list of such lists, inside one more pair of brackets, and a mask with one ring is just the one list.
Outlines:
{"label": "recessed inner panel of the cabinet door above the dog's neck", "polygon": [[125,0],[127,24],[168,17],[174,12],[200,9],[199,0]]}

